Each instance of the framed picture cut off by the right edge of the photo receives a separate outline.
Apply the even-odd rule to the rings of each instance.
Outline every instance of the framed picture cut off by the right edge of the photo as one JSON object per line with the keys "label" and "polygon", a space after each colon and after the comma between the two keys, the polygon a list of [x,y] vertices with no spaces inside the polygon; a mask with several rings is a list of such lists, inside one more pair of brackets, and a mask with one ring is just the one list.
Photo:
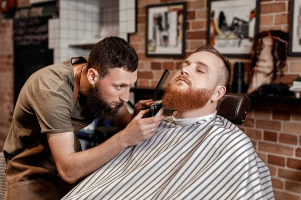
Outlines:
{"label": "framed picture cut off by the right edge of the photo", "polygon": [[301,0],[290,1],[288,55],[301,55]]}

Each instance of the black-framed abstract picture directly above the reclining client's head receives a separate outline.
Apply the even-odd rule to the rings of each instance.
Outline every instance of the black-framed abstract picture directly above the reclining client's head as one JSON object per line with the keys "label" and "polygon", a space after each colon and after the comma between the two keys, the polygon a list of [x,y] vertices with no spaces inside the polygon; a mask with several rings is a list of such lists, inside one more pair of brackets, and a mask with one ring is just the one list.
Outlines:
{"label": "black-framed abstract picture directly above the reclining client's head", "polygon": [[207,43],[228,57],[251,56],[260,0],[209,0]]}

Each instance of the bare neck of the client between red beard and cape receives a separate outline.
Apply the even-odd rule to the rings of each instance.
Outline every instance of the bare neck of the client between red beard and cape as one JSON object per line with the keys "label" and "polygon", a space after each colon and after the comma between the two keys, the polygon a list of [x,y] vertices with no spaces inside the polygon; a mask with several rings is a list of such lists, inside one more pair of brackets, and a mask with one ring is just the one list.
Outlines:
{"label": "bare neck of the client between red beard and cape", "polygon": [[206,116],[208,114],[212,114],[216,109],[215,103],[206,104],[202,108],[198,109],[190,109],[190,110],[179,110],[177,109],[177,118],[197,118],[201,116]]}

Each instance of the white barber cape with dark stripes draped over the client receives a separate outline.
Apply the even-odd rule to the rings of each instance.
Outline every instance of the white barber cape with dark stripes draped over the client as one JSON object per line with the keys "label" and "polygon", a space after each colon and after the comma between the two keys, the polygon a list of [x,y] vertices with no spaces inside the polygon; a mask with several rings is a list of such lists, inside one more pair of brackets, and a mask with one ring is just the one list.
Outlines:
{"label": "white barber cape with dark stripes draped over the client", "polygon": [[248,136],[214,115],[120,152],[63,199],[274,199],[267,166]]}

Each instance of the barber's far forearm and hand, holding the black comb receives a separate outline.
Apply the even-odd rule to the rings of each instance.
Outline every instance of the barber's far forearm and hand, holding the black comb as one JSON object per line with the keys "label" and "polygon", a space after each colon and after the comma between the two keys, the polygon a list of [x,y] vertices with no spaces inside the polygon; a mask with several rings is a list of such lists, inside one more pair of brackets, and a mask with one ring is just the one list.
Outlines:
{"label": "barber's far forearm and hand, holding the black comb", "polygon": [[148,100],[139,100],[135,105],[134,105],[134,112],[133,115],[131,115],[126,106],[123,105],[122,107],[119,108],[118,115],[116,119],[114,120],[114,124],[117,127],[117,130],[122,130],[124,129],[127,124],[146,106],[151,105],[153,102],[152,99]]}

